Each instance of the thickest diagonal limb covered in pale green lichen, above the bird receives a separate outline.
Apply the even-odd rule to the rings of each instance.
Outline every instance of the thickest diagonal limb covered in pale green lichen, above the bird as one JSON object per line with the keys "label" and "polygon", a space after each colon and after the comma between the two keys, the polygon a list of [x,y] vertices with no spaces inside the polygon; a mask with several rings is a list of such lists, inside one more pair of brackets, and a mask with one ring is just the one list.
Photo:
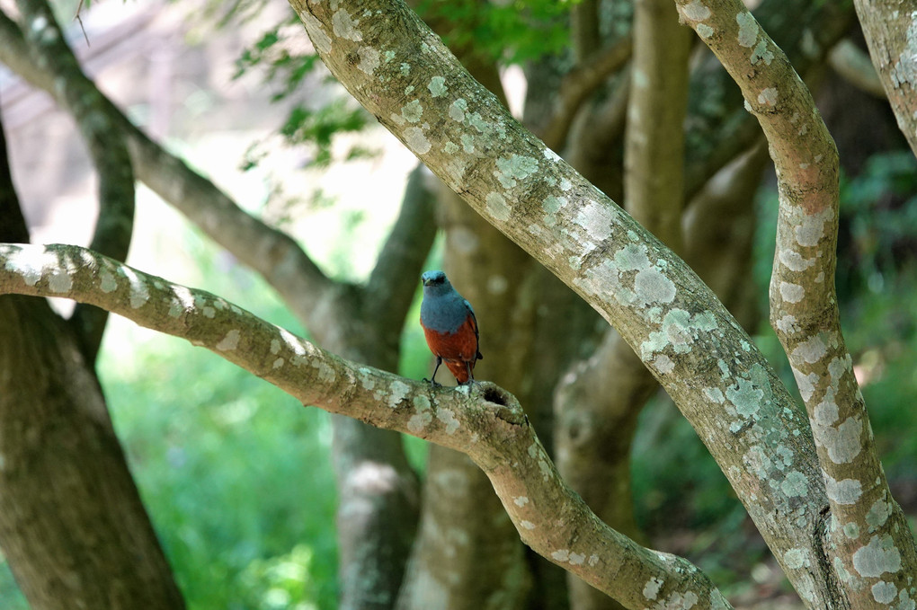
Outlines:
{"label": "thickest diagonal limb covered in pale green lichen, above the bird", "polygon": [[836,599],[808,421],[713,293],[515,123],[403,4],[292,4],[360,103],[622,333],[698,430],[790,582],[806,598]]}

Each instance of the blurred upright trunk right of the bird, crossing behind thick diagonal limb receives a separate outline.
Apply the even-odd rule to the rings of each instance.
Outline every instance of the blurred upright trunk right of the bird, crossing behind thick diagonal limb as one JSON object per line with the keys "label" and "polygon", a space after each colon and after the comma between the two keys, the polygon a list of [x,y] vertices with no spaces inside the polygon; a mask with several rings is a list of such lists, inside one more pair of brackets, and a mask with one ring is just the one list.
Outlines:
{"label": "blurred upright trunk right of the bird, crossing behind thick diagonal limb", "polygon": [[[683,124],[691,30],[670,0],[635,3],[634,60],[624,138],[627,212],[675,251],[681,243]],[[613,528],[640,539],[630,493],[636,419],[656,380],[617,332],[576,365],[558,388],[558,467],[586,503]],[[617,608],[579,579],[570,580],[577,610]]]}

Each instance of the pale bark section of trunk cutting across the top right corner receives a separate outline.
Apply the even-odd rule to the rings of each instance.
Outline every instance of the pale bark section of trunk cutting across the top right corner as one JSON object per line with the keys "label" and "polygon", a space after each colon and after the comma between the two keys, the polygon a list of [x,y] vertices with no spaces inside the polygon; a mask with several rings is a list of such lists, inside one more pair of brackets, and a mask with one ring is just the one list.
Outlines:
{"label": "pale bark section of trunk cutting across the top right corner", "polygon": [[917,7],[895,0],[854,5],[898,126],[917,154]]}

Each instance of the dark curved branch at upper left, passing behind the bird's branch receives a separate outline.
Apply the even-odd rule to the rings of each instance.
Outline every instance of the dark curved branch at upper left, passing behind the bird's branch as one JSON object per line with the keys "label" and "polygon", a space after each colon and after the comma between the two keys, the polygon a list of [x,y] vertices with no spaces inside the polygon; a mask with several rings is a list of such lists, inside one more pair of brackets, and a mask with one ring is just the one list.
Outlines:
{"label": "dark curved branch at upper left, passing behind the bird's branch", "polygon": [[[116,260],[127,258],[134,224],[134,171],[124,136],[116,128],[117,113],[80,70],[79,63],[44,0],[19,0],[26,20],[28,51],[48,71],[64,107],[80,128],[99,177],[99,215],[90,247]],[[71,323],[80,337],[87,362],[95,362],[108,313],[79,305]]]}

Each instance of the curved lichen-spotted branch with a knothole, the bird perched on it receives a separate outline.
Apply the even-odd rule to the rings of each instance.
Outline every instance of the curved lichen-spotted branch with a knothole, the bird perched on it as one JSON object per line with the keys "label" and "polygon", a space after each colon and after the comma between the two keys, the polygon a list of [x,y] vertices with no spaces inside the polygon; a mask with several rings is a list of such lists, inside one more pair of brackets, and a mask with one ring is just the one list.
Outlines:
{"label": "curved lichen-spotted branch with a knothole, the bird perched on it", "polygon": [[729,608],[689,561],[609,528],[564,485],[515,398],[488,383],[432,388],[349,362],[232,303],[70,245],[0,245],[0,294],[89,302],[203,346],[306,405],[467,453],[520,537],[629,608]]}

